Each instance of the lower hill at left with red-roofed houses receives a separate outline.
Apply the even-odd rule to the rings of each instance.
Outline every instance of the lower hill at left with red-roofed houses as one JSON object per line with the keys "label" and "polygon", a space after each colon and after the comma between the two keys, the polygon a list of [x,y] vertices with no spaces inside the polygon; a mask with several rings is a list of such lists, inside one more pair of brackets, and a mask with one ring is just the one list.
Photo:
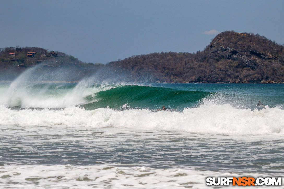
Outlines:
{"label": "lower hill at left with red-roofed houses", "polygon": [[59,68],[69,70],[72,76],[67,81],[78,81],[93,74],[103,64],[85,63],[74,56],[58,51],[47,51],[39,47],[6,47],[0,49],[0,81],[13,80],[27,68],[39,66],[37,72],[53,73]]}

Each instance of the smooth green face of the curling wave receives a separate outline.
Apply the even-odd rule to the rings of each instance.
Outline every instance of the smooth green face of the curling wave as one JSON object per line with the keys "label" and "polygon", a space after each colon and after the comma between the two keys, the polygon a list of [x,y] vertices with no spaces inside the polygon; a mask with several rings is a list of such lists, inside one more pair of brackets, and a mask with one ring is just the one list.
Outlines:
{"label": "smooth green face of the curling wave", "polygon": [[85,97],[90,103],[82,105],[86,110],[112,108],[149,108],[156,110],[165,106],[168,109],[183,110],[185,107],[198,105],[203,98],[210,95],[203,91],[181,91],[163,87],[137,85],[118,86],[106,91],[99,91]]}

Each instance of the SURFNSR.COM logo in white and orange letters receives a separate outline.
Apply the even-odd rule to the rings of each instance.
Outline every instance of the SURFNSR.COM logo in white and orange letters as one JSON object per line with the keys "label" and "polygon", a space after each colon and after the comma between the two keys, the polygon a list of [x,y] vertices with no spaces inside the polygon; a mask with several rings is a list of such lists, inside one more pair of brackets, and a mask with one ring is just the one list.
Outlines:
{"label": "SURFNSR.COM logo in white and orange letters", "polygon": [[281,177],[258,177],[254,179],[253,177],[208,177],[206,178],[206,184],[208,186],[215,185],[215,186],[229,186],[230,183],[233,186],[281,186]]}

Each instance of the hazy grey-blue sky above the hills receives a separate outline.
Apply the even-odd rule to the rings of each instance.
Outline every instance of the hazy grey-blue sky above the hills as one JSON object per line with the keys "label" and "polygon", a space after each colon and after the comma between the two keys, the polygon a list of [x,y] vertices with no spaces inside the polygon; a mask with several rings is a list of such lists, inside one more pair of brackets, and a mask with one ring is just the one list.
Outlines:
{"label": "hazy grey-blue sky above the hills", "polygon": [[41,47],[83,62],[203,50],[218,32],[284,43],[284,1],[4,1],[0,48]]}

